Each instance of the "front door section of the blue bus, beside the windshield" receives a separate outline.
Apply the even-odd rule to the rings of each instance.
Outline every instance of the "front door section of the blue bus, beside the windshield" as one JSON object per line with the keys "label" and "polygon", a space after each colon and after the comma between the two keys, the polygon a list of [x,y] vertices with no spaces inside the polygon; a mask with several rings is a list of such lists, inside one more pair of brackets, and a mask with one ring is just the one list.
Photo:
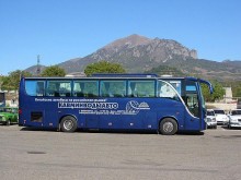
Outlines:
{"label": "front door section of the blue bus, beside the windshield", "polygon": [[202,129],[202,97],[199,88],[195,81],[185,81],[184,101],[188,109],[186,113],[185,129],[200,130]]}

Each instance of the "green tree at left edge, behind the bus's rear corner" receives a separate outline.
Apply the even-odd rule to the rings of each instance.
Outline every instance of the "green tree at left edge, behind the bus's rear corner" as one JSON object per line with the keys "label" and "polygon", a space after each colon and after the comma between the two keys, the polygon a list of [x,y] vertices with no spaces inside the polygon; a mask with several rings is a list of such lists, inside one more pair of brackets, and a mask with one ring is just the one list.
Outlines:
{"label": "green tree at left edge, behind the bus's rear corner", "polygon": [[19,89],[21,76],[32,76],[30,72],[16,70],[10,72],[8,76],[2,77],[1,88],[3,91],[15,91]]}

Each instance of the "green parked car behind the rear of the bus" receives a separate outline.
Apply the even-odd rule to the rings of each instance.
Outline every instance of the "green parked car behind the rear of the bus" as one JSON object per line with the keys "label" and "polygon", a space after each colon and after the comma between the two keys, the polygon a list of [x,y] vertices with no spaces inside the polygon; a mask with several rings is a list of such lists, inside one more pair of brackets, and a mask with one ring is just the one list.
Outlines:
{"label": "green parked car behind the rear of the bus", "polygon": [[11,107],[0,108],[0,123],[10,125],[11,123],[18,123],[19,121],[19,109]]}

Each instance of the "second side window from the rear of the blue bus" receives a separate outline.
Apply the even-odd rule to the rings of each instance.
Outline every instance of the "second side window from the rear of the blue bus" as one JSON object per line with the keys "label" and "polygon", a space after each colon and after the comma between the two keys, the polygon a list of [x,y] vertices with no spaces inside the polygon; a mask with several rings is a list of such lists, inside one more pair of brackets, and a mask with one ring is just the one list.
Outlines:
{"label": "second side window from the rear of the blue bus", "polygon": [[48,81],[47,82],[47,96],[67,96],[71,95],[70,81]]}

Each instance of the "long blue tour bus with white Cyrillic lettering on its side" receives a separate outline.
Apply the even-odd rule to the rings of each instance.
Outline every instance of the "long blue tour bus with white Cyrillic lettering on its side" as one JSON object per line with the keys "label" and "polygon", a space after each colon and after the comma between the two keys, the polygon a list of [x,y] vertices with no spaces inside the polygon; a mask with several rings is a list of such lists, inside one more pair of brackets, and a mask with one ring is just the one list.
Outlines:
{"label": "long blue tour bus with white Cyrillic lettering on its side", "polygon": [[194,77],[22,77],[19,125],[64,132],[152,130],[165,135],[203,131],[206,110],[199,83],[213,91],[209,82]]}

